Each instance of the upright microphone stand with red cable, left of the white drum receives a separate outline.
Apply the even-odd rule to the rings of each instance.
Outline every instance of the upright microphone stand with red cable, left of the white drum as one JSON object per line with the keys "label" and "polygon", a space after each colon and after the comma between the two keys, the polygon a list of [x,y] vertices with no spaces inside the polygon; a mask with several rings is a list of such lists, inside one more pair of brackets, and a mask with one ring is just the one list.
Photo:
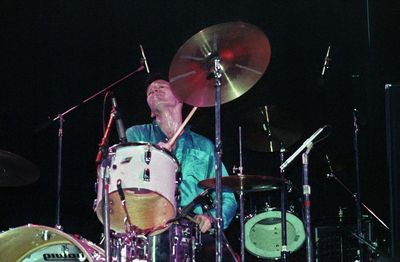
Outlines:
{"label": "upright microphone stand with red cable, left of the white drum", "polygon": [[111,159],[108,157],[108,137],[110,135],[110,130],[112,123],[115,119],[116,110],[113,107],[111,109],[111,114],[108,119],[107,128],[104,132],[103,138],[99,144],[99,152],[96,156],[96,163],[101,164],[103,168],[103,173],[101,176],[103,191],[102,191],[102,216],[103,216],[103,234],[104,234],[104,251],[106,256],[106,262],[111,262],[111,240],[110,240],[110,207],[109,207],[109,185],[110,185],[110,166]]}

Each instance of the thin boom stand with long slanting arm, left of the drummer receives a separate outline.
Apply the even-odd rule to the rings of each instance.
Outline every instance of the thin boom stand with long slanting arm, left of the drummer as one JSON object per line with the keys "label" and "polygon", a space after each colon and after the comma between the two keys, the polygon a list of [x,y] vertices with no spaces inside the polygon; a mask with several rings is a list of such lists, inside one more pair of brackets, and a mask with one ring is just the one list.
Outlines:
{"label": "thin boom stand with long slanting arm, left of the drummer", "polygon": [[57,163],[57,204],[56,204],[56,227],[58,229],[61,229],[61,225],[60,225],[60,199],[61,199],[61,181],[62,181],[62,144],[63,144],[63,135],[64,135],[64,130],[63,130],[63,122],[64,120],[64,116],[66,116],[67,114],[69,114],[70,112],[74,111],[75,109],[77,109],[78,107],[80,107],[83,104],[86,104],[87,102],[93,100],[94,98],[96,98],[97,96],[108,92],[109,90],[111,90],[111,88],[113,88],[114,86],[116,86],[117,84],[121,83],[122,81],[124,81],[125,79],[133,76],[134,74],[144,70],[145,67],[143,65],[140,65],[135,71],[130,72],[129,74],[123,76],[122,78],[118,79],[117,81],[111,83],[110,85],[108,85],[107,87],[105,87],[104,89],[98,91],[97,93],[91,95],[90,97],[84,99],[83,101],[81,101],[79,104],[74,105],[73,107],[65,110],[63,113],[58,114],[56,117],[54,117],[53,119],[50,119],[49,121],[47,121],[44,124],[41,124],[40,126],[38,126],[34,131],[35,132],[39,132],[45,128],[47,128],[48,126],[50,126],[53,122],[55,121],[59,121],[59,130],[58,130],[58,163]]}

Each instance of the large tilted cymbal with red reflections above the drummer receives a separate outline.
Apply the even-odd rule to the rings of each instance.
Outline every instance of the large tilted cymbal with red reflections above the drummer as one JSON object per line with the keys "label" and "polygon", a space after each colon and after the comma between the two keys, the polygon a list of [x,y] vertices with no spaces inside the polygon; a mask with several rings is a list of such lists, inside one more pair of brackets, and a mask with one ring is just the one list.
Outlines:
{"label": "large tilted cymbal with red reflections above the drummer", "polygon": [[183,102],[214,106],[213,58],[221,62],[221,104],[247,92],[264,74],[270,61],[268,38],[256,26],[243,22],[217,24],[201,30],[175,54],[169,80]]}

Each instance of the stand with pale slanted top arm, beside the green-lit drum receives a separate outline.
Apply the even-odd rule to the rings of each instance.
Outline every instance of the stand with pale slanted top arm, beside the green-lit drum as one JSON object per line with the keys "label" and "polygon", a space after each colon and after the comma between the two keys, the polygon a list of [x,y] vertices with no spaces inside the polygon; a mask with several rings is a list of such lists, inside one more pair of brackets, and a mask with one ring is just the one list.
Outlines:
{"label": "stand with pale slanted top arm, beside the green-lit drum", "polygon": [[280,171],[283,172],[287,168],[287,166],[293,162],[293,160],[301,153],[302,154],[302,163],[303,163],[303,207],[304,207],[304,220],[305,220],[305,228],[306,228],[306,251],[307,251],[307,261],[314,261],[314,251],[312,244],[312,235],[311,235],[311,186],[308,182],[308,155],[314,144],[322,141],[326,137],[321,138],[320,140],[314,141],[328,126],[325,125],[315,131],[304,143],[280,165]]}

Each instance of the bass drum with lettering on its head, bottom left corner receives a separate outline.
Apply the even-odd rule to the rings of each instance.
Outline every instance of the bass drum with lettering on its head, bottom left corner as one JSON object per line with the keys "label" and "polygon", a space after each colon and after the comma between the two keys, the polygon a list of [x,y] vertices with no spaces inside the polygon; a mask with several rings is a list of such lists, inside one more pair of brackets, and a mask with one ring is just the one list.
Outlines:
{"label": "bass drum with lettering on its head, bottom left corner", "polygon": [[1,233],[0,254],[1,261],[105,261],[104,251],[92,242],[32,224]]}

